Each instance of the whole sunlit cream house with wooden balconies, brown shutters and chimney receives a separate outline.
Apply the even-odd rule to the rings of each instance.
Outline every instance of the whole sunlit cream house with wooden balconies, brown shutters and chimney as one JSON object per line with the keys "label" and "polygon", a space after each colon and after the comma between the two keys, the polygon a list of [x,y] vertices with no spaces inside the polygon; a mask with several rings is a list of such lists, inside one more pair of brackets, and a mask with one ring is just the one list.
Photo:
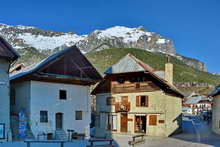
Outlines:
{"label": "whole sunlit cream house with wooden balconies, brown shutters and chimney", "polygon": [[[161,72],[160,72],[161,73]],[[160,76],[131,54],[105,72],[96,95],[97,137],[114,134],[170,136],[181,130],[182,93],[173,85],[173,65]]]}

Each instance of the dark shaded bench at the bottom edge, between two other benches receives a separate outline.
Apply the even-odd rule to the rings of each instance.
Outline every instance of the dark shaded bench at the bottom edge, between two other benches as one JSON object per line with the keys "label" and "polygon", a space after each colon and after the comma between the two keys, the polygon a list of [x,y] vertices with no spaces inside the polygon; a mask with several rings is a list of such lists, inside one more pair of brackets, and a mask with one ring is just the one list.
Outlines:
{"label": "dark shaded bench at the bottom edge, between two other benches", "polygon": [[[112,139],[90,139],[89,142],[90,145],[87,147],[114,147]],[[97,145],[98,142],[105,142],[106,144]]]}

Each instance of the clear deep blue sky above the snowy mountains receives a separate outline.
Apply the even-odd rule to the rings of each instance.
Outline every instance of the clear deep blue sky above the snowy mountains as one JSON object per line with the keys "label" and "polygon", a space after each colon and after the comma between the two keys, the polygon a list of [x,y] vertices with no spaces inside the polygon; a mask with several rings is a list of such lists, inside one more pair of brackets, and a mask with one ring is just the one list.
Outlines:
{"label": "clear deep blue sky above the snowy mountains", "polygon": [[144,26],[174,41],[177,52],[219,72],[219,0],[5,0],[0,22],[87,34]]}

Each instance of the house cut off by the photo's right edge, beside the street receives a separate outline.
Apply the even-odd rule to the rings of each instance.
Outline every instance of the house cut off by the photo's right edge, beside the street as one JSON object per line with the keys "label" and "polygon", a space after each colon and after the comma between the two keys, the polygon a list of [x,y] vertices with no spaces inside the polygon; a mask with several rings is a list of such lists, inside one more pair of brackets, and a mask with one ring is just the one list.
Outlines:
{"label": "house cut off by the photo's right edge, beside the street", "polygon": [[220,135],[220,85],[210,92],[213,98],[212,106],[212,131]]}

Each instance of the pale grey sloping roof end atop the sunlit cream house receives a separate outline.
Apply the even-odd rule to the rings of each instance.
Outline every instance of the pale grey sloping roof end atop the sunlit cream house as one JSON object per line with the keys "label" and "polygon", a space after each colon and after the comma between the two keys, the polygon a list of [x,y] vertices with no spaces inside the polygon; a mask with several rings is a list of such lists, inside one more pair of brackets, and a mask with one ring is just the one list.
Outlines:
{"label": "pale grey sloping roof end atop the sunlit cream house", "polygon": [[153,71],[154,69],[148,64],[137,59],[131,54],[127,54],[124,58],[119,60],[116,64],[109,67],[105,74],[116,74],[116,73],[128,73],[138,71]]}

